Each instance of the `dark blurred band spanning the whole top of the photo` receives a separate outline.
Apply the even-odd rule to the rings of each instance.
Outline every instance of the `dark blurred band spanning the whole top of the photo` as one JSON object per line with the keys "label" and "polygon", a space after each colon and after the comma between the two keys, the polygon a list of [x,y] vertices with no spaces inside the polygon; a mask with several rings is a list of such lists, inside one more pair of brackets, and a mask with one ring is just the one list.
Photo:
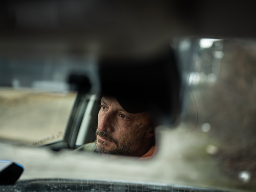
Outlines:
{"label": "dark blurred band spanning the whole top of the photo", "polygon": [[173,37],[256,35],[253,1],[3,1],[0,51],[151,54]]}

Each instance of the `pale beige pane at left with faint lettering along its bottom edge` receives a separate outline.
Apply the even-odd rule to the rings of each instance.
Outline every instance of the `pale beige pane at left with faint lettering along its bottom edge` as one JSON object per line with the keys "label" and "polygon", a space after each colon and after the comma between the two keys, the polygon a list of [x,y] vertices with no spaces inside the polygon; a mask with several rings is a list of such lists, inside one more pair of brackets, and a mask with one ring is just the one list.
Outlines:
{"label": "pale beige pane at left with faint lettering along its bottom edge", "polygon": [[62,140],[76,93],[0,89],[1,140],[37,146]]}

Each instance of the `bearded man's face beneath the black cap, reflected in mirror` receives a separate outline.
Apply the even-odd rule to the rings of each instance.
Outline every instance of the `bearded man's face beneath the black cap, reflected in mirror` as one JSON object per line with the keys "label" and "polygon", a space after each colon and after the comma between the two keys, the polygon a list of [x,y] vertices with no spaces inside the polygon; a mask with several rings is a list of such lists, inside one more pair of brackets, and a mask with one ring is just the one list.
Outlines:
{"label": "bearded man's face beneath the black cap, reflected in mirror", "polygon": [[96,131],[100,153],[141,156],[154,135],[148,113],[126,112],[114,97],[102,97]]}

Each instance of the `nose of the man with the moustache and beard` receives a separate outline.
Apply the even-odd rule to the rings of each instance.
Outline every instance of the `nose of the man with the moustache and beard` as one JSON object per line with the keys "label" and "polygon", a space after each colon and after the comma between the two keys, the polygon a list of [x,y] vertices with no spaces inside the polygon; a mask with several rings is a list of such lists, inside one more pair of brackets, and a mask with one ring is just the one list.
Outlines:
{"label": "nose of the man with the moustache and beard", "polygon": [[98,116],[98,129],[104,132],[113,131],[113,114],[110,111],[103,116]]}

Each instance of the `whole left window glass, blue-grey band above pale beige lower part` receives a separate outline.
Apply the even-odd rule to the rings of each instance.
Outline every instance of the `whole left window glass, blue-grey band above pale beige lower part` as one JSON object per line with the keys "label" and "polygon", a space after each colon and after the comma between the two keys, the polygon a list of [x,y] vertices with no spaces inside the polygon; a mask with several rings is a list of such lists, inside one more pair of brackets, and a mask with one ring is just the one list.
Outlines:
{"label": "whole left window glass, blue-grey band above pale beige lower part", "polygon": [[70,90],[68,77],[73,71],[86,72],[85,60],[2,51],[1,140],[31,146],[62,140],[76,98],[76,91]]}

